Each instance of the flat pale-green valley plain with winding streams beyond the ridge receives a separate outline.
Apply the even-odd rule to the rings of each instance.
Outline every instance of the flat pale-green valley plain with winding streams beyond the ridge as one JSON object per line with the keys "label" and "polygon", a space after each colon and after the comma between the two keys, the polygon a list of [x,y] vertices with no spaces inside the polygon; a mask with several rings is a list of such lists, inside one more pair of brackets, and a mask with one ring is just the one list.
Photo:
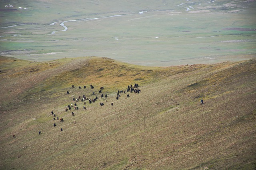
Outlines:
{"label": "flat pale-green valley plain with winding streams beyond the ridge", "polygon": [[[13,5],[28,10],[2,12],[1,27],[18,25],[0,29],[4,56],[31,61],[98,56],[145,66],[255,56],[254,1],[26,0]],[[63,21],[68,21],[66,31]]]}

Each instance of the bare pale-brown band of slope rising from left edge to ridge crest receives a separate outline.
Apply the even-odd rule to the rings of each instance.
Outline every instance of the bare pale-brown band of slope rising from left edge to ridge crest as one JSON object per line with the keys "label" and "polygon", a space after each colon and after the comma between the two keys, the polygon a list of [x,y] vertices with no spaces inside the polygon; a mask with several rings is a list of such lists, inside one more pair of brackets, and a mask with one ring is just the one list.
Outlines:
{"label": "bare pale-brown band of slope rising from left edge to ridge crest", "polygon": [[[49,62],[48,64],[51,63],[52,62]],[[8,82],[3,77],[12,76],[13,73],[7,72],[7,74],[0,75],[0,86],[2,91],[0,103],[2,103],[2,100],[11,100],[16,98],[20,93],[36,86],[39,82],[42,82],[52,76],[56,76],[62,72],[71,71],[76,68],[81,68],[87,63],[87,58],[74,59],[69,63],[65,62],[65,64],[61,64],[60,66],[51,69],[42,70],[36,73],[28,73],[14,78],[8,78]]]}

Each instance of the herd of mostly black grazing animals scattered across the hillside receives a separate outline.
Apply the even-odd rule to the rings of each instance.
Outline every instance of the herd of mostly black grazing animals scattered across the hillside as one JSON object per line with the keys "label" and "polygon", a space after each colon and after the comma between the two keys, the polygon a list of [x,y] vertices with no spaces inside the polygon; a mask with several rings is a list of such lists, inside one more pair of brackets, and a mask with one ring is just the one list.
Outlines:
{"label": "herd of mostly black grazing animals scattered across the hillside", "polygon": [[[130,92],[130,93],[134,92],[134,93],[139,94],[141,90],[138,89],[138,86],[139,86],[138,84],[134,84],[133,86],[132,86],[132,84],[130,84],[130,85],[128,85],[126,90],[118,90],[116,100],[118,100],[121,97],[121,94],[125,94],[126,92]],[[94,89],[94,86],[90,85],[90,87],[91,87],[91,89]],[[72,85],[72,88],[74,88],[74,85]],[[79,86],[78,88],[81,89],[81,86]],[[84,86],[84,88],[86,88],[86,86]],[[100,87],[99,93],[101,93],[102,90],[104,90],[104,87]],[[69,94],[69,91],[67,91],[67,94]],[[92,95],[95,95],[95,92],[92,92]],[[103,98],[103,97],[104,97],[104,94],[101,94],[101,98]],[[127,94],[127,97],[130,97],[130,95]],[[78,102],[80,100],[80,98],[81,98],[81,96],[79,96],[77,99],[73,98],[72,100],[73,100],[73,102]],[[105,98],[107,98],[107,94],[105,94]],[[83,95],[83,98],[81,99],[81,101],[84,102],[84,105],[85,105],[86,104],[85,100],[88,100],[89,104],[92,104],[92,103],[95,103],[97,99],[98,99],[97,96],[94,99],[90,99],[90,98],[86,97],[85,95]],[[105,102],[107,102],[107,100],[105,100]],[[111,106],[113,106],[113,105],[114,104],[112,102]],[[104,106],[104,103],[100,102],[100,106]],[[65,111],[71,110],[72,107],[75,110],[78,109],[78,106],[76,103],[74,103],[74,106],[73,106],[73,104],[71,104],[71,105],[68,105],[67,107],[68,108],[65,108]],[[86,107],[84,106],[83,109],[86,109]],[[53,111],[51,113],[53,115],[53,120],[55,121],[56,114]],[[72,116],[74,116],[74,115],[75,115],[74,111],[72,111]],[[57,120],[60,120],[60,122],[64,121],[63,118],[59,118],[59,117],[57,117]],[[74,121],[74,123],[76,123],[76,121]],[[56,127],[56,123],[54,123],[53,126]],[[63,129],[60,128],[60,131],[63,131]],[[41,131],[39,131],[38,134],[40,135]],[[15,137],[15,135],[13,135],[13,136]]]}

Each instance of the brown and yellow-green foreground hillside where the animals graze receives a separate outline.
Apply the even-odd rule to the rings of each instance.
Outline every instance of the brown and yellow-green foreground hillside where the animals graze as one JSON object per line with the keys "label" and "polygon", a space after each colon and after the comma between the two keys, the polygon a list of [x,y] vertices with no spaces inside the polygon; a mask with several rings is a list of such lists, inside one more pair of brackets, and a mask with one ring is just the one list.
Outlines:
{"label": "brown and yellow-green foreground hillside where the animals graze", "polygon": [[[163,68],[0,57],[0,70],[0,169],[256,167],[256,59]],[[140,94],[116,100],[135,83]],[[65,111],[83,94],[98,100]]]}

